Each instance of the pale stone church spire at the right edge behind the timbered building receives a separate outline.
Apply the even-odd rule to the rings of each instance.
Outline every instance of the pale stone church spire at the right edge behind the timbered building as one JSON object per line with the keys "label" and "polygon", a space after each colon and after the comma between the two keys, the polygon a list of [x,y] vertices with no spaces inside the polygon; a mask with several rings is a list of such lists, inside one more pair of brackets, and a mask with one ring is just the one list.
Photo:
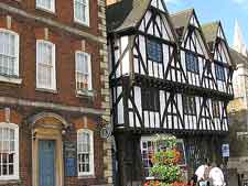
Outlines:
{"label": "pale stone church spire at the right edge behind the timbered building", "polygon": [[238,20],[235,21],[234,50],[247,56],[247,46]]}

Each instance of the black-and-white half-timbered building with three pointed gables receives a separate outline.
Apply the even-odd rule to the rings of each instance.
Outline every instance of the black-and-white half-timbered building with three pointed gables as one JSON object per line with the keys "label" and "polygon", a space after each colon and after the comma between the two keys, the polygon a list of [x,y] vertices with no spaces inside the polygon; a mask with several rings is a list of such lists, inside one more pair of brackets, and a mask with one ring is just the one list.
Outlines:
{"label": "black-and-white half-timbered building with three pointed gables", "polygon": [[107,8],[120,186],[150,177],[157,133],[180,139],[186,173],[205,158],[220,160],[234,66],[220,23],[212,26],[203,32],[193,9],[170,15],[163,0]]}

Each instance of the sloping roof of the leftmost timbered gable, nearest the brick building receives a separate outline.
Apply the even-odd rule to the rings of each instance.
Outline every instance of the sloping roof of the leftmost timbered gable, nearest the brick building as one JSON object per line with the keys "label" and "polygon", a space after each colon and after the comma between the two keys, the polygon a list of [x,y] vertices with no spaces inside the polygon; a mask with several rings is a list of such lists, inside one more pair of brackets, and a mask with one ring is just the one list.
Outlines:
{"label": "sloping roof of the leftmost timbered gable, nearest the brick building", "polygon": [[122,0],[107,7],[108,32],[133,29],[143,18],[151,0]]}

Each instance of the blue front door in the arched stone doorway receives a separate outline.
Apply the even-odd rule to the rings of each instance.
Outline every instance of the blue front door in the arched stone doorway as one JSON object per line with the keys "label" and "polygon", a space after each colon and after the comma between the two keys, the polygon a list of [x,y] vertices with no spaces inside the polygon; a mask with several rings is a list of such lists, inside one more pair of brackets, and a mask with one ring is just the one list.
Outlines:
{"label": "blue front door in the arched stone doorway", "polygon": [[55,141],[39,141],[39,186],[55,186]]}

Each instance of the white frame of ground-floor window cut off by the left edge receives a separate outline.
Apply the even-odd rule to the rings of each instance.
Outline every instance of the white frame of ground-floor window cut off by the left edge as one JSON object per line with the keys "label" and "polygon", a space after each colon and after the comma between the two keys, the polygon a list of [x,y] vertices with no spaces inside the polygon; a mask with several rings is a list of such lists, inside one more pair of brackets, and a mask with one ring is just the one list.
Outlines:
{"label": "white frame of ground-floor window cut off by the left edge", "polygon": [[14,147],[15,154],[13,157],[13,175],[0,176],[0,180],[12,180],[19,179],[19,125],[14,123],[1,122],[0,128],[9,128],[14,130]]}

